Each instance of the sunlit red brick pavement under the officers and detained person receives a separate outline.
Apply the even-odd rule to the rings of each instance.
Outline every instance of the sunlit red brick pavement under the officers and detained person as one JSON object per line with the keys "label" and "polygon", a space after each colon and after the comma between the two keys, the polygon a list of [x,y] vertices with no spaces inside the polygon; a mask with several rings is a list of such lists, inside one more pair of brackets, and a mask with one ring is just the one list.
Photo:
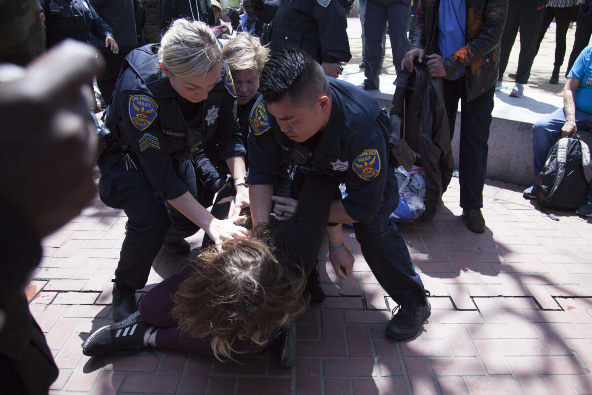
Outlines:
{"label": "sunlit red brick pavement under the officers and detained person", "polygon": [[[84,339],[111,322],[110,279],[126,221],[95,198],[44,240],[27,290],[60,368],[52,393],[591,394],[592,226],[571,213],[549,219],[522,189],[487,181],[484,235],[459,217],[458,179],[431,223],[400,226],[432,293],[432,316],[413,341],[385,339],[394,306],[352,231],[346,245],[358,261],[347,281],[326,264],[325,243],[329,297],[298,320],[289,369],[278,367],[274,351],[241,364],[165,350],[84,357]],[[149,284],[182,264],[162,251]]]}

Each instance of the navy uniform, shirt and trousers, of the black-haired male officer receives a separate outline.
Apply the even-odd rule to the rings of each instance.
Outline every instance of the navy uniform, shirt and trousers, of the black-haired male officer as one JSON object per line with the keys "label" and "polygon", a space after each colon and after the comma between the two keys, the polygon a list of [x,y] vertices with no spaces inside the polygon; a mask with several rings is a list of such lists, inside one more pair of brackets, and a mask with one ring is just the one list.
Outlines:
{"label": "navy uniform, shirt and trousers, of the black-haired male officer", "polygon": [[[388,161],[389,117],[362,89],[328,79],[332,92],[329,123],[303,143],[316,141],[308,147],[313,156],[300,172],[305,177],[332,176],[337,183],[345,183],[343,207],[358,221],[354,223],[356,238],[382,288],[399,304],[424,297],[407,246],[390,220],[399,194]],[[292,161],[291,152],[298,143],[281,132],[262,99],[253,106],[250,122],[247,182],[273,185],[280,169]]]}

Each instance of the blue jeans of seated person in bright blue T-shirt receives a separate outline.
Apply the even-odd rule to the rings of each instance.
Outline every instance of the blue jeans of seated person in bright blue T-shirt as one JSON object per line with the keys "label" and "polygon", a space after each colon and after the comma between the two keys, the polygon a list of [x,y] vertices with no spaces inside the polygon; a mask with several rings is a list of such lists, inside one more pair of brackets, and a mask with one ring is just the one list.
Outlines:
{"label": "blue jeans of seated person in bright blue T-shirt", "polygon": [[[561,128],[565,124],[563,108],[540,118],[532,126],[533,169],[535,177],[545,166],[545,160],[551,147],[561,137]],[[578,130],[592,130],[592,114],[575,109],[575,126]]]}

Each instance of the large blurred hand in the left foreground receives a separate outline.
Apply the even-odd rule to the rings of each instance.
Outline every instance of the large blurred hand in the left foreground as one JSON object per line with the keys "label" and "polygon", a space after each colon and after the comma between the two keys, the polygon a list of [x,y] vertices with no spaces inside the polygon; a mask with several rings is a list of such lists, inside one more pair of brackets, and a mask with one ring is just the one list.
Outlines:
{"label": "large blurred hand in the left foreground", "polygon": [[0,201],[20,210],[40,237],[95,193],[96,128],[81,92],[104,65],[95,54],[66,40],[26,69],[0,68]]}

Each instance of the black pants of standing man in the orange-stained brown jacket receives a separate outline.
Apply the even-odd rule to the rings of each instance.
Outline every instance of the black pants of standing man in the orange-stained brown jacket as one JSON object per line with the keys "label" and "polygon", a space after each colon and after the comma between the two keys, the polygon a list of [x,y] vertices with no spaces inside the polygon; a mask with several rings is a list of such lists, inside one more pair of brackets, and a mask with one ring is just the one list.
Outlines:
{"label": "black pants of standing man in the orange-stained brown jacket", "polygon": [[467,101],[465,76],[454,81],[442,79],[442,82],[451,140],[456,123],[458,100],[461,99],[461,141],[458,165],[461,207],[481,208],[489,149],[487,140],[496,88],[493,87],[479,97]]}

